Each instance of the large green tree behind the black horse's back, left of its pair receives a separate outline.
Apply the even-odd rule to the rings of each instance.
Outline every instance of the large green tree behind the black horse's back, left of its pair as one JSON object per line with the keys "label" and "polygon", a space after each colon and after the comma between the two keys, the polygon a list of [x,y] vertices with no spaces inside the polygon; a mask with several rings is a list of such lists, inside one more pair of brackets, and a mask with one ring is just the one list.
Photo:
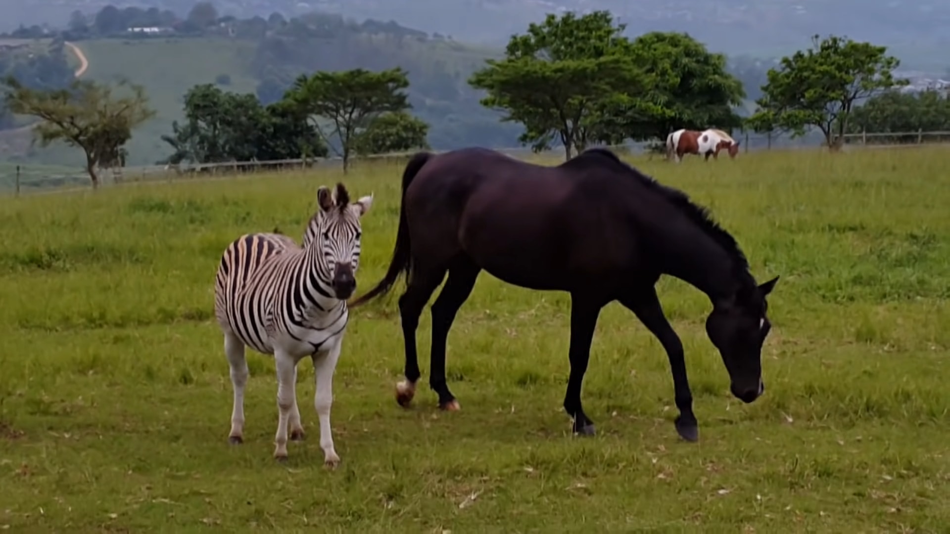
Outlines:
{"label": "large green tree behind the black horse's back, left of its pair", "polygon": [[542,151],[557,138],[570,159],[587,143],[625,137],[602,120],[624,95],[632,106],[645,83],[625,28],[609,11],[549,14],[512,36],[504,60],[487,60],[468,83],[487,91],[482,105],[503,110],[504,122],[523,124],[521,143]]}

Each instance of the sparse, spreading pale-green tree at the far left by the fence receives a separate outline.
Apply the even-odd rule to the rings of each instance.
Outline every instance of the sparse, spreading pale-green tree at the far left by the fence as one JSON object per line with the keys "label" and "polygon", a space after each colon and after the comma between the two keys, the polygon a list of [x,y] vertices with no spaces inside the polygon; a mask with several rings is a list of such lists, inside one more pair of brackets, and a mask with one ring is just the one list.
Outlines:
{"label": "sparse, spreading pale-green tree at the far left by the fence", "polygon": [[99,187],[96,173],[100,164],[114,166],[123,158],[123,144],[132,130],[155,116],[148,107],[142,86],[120,82],[128,96],[112,95],[112,88],[95,82],[76,80],[65,89],[32,89],[16,78],[4,80],[5,102],[10,111],[40,119],[34,128],[42,146],[62,141],[85,152],[85,170],[92,187]]}

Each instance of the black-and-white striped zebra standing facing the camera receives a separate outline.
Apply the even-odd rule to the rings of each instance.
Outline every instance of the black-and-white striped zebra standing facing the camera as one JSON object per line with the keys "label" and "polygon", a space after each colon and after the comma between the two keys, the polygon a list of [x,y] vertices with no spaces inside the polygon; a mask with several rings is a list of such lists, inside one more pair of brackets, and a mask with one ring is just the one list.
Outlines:
{"label": "black-and-white striped zebra standing facing the camera", "polygon": [[346,187],[337,183],[335,195],[321,186],[316,199],[319,208],[307,223],[302,246],[276,233],[245,234],[228,245],[215,277],[215,317],[224,334],[234,388],[230,443],[243,443],[245,347],[274,355],[278,461],[287,459],[288,426],[291,440],[303,439],[296,364],[311,356],[320,448],[324,464],[336,467],[340,457],[330,429],[333,371],[350,316],[346,299],[356,289],[360,219],[370,211],[372,195],[351,203]]}

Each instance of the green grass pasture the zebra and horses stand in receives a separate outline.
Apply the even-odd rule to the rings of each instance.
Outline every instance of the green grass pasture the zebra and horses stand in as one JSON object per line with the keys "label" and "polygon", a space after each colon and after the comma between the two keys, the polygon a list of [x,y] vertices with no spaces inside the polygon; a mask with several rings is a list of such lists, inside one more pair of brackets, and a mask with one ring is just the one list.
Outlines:
{"label": "green grass pasture the zebra and horses stand in", "polygon": [[[92,56],[94,57],[94,56]],[[96,61],[92,60],[92,65]],[[769,297],[765,396],[742,405],[703,331],[705,296],[660,297],[687,352],[698,444],[678,440],[656,340],[618,304],[584,383],[599,435],[561,410],[568,297],[483,275],[448,342],[462,410],[410,410],[394,292],[354,311],[334,381],[342,464],[323,467],[313,367],[302,444],[271,456],[276,382],[249,353],[245,443],[213,277],[248,231],[299,238],[316,187],[280,175],[0,200],[0,527],[11,532],[947,532],[950,178],[940,149],[637,163],[712,207]],[[395,237],[397,166],[356,167],[365,291]]]}

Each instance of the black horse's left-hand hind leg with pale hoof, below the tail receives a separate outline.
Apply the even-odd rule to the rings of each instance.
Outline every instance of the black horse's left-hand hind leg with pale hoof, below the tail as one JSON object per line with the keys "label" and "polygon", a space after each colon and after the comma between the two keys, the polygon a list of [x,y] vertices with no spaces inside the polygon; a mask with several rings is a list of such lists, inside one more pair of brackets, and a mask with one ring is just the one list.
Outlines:
{"label": "black horse's left-hand hind leg with pale hoof, below the tail", "polygon": [[396,384],[396,402],[406,407],[415,396],[415,384],[422,372],[419,371],[419,354],[416,351],[416,329],[419,328],[419,315],[435,288],[446,277],[446,268],[430,268],[425,265],[413,265],[409,275],[406,293],[399,297],[399,318],[403,327],[403,343],[406,351],[406,380]]}

